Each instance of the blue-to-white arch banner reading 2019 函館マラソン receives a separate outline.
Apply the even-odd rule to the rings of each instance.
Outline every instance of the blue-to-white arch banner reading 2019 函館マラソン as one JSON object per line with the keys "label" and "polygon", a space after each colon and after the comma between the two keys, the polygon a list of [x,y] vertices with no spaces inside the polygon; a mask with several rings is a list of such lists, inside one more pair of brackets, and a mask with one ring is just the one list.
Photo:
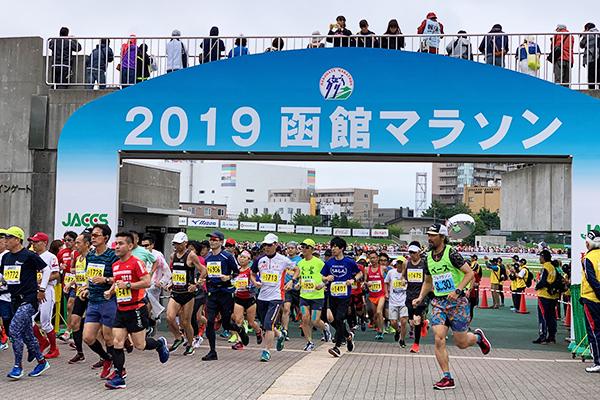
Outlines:
{"label": "blue-to-white arch banner reading 2019 \u51fd\u9928\u30de\u30e9\u30bd\u30f3", "polygon": [[573,156],[575,237],[600,223],[587,197],[599,112],[600,101],[559,85],[432,54],[326,48],[203,64],[71,116],[55,234],[75,214],[116,226],[118,152],[139,150]]}

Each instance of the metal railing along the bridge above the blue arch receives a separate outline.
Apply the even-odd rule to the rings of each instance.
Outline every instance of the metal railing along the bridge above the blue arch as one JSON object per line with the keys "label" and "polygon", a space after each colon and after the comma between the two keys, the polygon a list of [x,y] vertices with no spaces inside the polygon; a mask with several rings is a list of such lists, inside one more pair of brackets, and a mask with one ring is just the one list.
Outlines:
{"label": "metal railing along the bridge above the blue arch", "polygon": [[[553,53],[552,39],[559,35],[553,33],[521,33],[521,34],[457,34],[453,35],[374,35],[374,36],[235,36],[235,37],[56,37],[46,42],[46,83],[54,88],[85,88],[104,89],[122,88],[146,79],[177,70],[181,65],[178,57],[179,49],[185,48],[187,67],[193,67],[205,62],[219,61],[226,58],[239,57],[248,54],[258,54],[265,51],[289,51],[306,48],[329,48],[334,45],[347,47],[373,47],[389,51],[430,51],[437,48],[442,56],[458,56],[464,54],[473,62],[494,63],[501,68],[528,73],[550,82],[558,82],[572,89],[600,87],[600,77],[592,77],[588,82],[587,66],[583,65],[585,48],[580,47],[582,38],[600,41],[600,35],[593,33],[572,33],[568,36],[559,35],[557,41],[570,42],[573,38],[572,64],[560,63],[555,67],[547,61]],[[480,51],[486,38],[505,36],[506,40],[498,39],[505,49],[494,48],[494,53],[486,54]],[[568,38],[568,39],[566,39]],[[461,39],[461,40],[459,40]],[[539,69],[528,67],[528,62],[520,60],[519,47],[525,39],[539,47]],[[566,39],[566,40],[565,40]],[[101,47],[100,43],[109,43]],[[436,43],[437,42],[437,43]],[[239,45],[245,44],[246,50],[240,50]],[[100,46],[100,47],[99,47]],[[149,57],[139,57],[140,48],[145,47]],[[489,46],[491,48],[491,45]],[[533,48],[533,46],[532,46]],[[498,50],[498,53],[495,52]],[[326,51],[326,50],[324,50]],[[503,52],[503,55],[500,55]],[[172,54],[175,53],[175,57]],[[169,55],[171,54],[171,56]],[[498,55],[496,55],[498,54]],[[135,62],[132,59],[135,57]],[[530,56],[535,61],[536,56]],[[112,61],[111,61],[112,60]],[[173,61],[176,60],[176,61]],[[534,62],[535,64],[535,62]],[[99,68],[98,68],[99,66]],[[373,66],[377,68],[376,65]],[[394,71],[390,71],[394,72]],[[397,71],[402,73],[402,71]],[[557,76],[568,76],[568,79],[557,80]],[[105,79],[103,79],[105,78]],[[515,95],[520,95],[516,93]]]}

